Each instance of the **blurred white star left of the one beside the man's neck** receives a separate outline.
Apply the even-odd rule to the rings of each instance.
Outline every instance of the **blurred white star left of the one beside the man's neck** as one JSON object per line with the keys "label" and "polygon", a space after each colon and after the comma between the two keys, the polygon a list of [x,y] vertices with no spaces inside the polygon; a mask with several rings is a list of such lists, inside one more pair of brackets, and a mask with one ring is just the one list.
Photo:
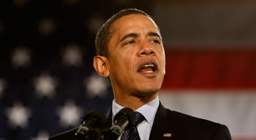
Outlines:
{"label": "blurred white star left of the one beside the man's neck", "polygon": [[38,98],[43,96],[48,96],[48,98],[54,97],[57,80],[48,73],[43,73],[38,78],[35,78],[34,84]]}

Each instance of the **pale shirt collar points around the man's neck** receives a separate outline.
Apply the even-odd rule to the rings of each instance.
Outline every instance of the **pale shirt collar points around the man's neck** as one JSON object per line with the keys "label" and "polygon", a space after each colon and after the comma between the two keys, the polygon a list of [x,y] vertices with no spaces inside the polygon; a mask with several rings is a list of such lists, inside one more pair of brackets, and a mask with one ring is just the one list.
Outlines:
{"label": "pale shirt collar points around the man's neck", "polygon": [[[158,105],[159,105],[159,99],[157,96],[152,101],[148,102],[147,104],[144,104],[143,106],[141,106],[140,108],[135,110],[135,112],[140,112],[144,116],[144,118],[146,118],[146,120],[149,122],[149,125],[151,125],[151,127],[152,127],[154,119],[155,119],[155,113],[157,113]],[[113,103],[112,103],[112,113],[113,113],[112,120],[113,120],[114,116],[116,115],[116,113],[118,113],[119,110],[121,110],[122,108],[124,108],[124,107],[117,104],[114,99]]]}

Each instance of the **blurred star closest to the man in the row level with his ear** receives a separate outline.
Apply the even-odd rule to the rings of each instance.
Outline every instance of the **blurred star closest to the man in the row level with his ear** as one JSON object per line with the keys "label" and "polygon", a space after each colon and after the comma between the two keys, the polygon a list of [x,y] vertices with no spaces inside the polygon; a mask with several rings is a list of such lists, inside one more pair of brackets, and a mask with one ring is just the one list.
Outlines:
{"label": "blurred star closest to the man in the row level with his ear", "polygon": [[82,61],[83,59],[81,50],[77,45],[71,44],[64,49],[63,62],[65,65],[79,66],[80,64],[82,64]]}

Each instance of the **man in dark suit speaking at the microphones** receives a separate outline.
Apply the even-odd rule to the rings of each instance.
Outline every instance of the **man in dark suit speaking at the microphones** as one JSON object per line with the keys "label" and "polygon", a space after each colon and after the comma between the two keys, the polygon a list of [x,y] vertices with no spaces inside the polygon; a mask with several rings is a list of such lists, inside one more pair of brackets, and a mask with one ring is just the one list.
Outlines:
{"label": "man in dark suit speaking at the microphones", "polygon": [[[231,139],[225,125],[171,111],[158,100],[165,75],[165,51],[160,30],[151,16],[126,9],[108,19],[96,36],[93,66],[112,83],[115,99],[105,127],[123,107],[143,121],[119,139]],[[52,139],[74,139],[77,128]],[[132,133],[132,134],[131,134]]]}

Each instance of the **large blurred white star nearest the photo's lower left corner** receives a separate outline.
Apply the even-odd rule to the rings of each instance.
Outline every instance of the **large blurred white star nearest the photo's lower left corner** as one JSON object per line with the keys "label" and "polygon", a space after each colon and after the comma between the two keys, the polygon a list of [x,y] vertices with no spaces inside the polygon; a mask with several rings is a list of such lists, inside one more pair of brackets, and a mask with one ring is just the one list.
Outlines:
{"label": "large blurred white star nearest the photo's lower left corner", "polygon": [[30,109],[24,107],[19,102],[15,102],[13,107],[6,109],[7,117],[9,118],[9,125],[12,128],[18,126],[26,128],[28,125],[28,119],[31,116]]}

